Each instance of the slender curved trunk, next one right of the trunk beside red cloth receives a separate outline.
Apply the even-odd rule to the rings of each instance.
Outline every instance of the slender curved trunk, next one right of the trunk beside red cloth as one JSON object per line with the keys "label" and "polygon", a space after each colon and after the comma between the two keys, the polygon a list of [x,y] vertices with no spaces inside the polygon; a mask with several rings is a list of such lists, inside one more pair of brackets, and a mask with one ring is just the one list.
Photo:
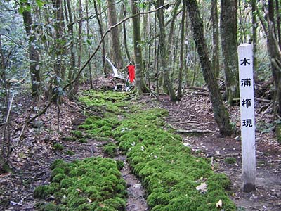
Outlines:
{"label": "slender curved trunk, next one right of the trunk beside red cloth", "polygon": [[[156,8],[163,6],[164,0],[156,1]],[[161,56],[161,63],[163,69],[164,84],[169,91],[171,101],[177,101],[176,94],[174,92],[171,80],[169,77],[168,65],[166,60],[166,35],[165,35],[165,23],[164,23],[164,11],[163,8],[157,11],[157,18],[159,22],[159,51]]]}

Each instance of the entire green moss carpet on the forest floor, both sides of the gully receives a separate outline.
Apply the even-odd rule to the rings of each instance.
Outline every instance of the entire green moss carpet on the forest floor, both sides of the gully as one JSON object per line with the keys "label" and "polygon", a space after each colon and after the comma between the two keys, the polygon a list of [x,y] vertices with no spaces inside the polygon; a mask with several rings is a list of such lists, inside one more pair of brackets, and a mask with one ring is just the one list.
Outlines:
{"label": "entire green moss carpet on the forest floor, both sides of the gully", "polygon": [[[114,157],[119,148],[127,156],[145,187],[151,210],[236,210],[226,194],[230,180],[213,172],[211,160],[192,155],[181,136],[164,129],[166,110],[129,106],[125,97],[119,92],[83,93],[81,102],[104,108],[105,113],[87,118],[79,129],[93,139],[115,139],[103,147],[104,152]],[[81,138],[79,132],[73,135]],[[58,160],[51,167],[52,183],[36,189],[34,196],[55,196],[60,210],[124,210],[125,184],[117,166],[122,163],[110,158],[70,164]]]}

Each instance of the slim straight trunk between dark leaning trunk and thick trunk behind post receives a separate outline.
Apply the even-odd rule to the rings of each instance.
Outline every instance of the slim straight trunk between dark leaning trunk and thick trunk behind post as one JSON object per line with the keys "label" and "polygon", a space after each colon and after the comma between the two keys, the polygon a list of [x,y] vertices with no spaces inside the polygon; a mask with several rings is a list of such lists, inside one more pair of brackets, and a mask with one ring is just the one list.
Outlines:
{"label": "slim straight trunk between dark leaning trunk and thick trunk behind post", "polygon": [[219,77],[219,34],[218,34],[218,1],[211,0],[211,22],[213,23],[213,54],[211,70],[214,72],[214,77],[218,80]]}

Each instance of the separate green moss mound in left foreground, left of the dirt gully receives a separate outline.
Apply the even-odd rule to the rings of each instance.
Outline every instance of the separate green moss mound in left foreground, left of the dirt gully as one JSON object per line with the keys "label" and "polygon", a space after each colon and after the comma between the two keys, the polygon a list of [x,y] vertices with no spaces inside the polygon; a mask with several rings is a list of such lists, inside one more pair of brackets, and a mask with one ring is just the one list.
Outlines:
{"label": "separate green moss mound in left foreground, left of the dirt gully", "polygon": [[34,197],[53,196],[56,203],[39,205],[39,210],[124,210],[126,182],[118,167],[110,158],[55,160],[51,184],[35,188]]}

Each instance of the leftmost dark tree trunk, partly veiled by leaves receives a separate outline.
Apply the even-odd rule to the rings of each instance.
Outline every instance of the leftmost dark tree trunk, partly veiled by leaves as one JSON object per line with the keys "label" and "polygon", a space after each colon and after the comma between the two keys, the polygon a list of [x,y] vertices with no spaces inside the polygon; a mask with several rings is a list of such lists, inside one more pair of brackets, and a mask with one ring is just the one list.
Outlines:
{"label": "leftmost dark tree trunk, partly veiled by leaves", "polygon": [[[24,4],[24,3],[22,3]],[[32,96],[39,96],[40,93],[40,56],[39,52],[34,48],[36,37],[32,33],[32,15],[30,11],[25,10],[22,13],[23,23],[25,25],[25,32],[27,34],[29,46],[28,46],[28,54],[30,57],[30,77],[31,77],[31,88],[32,88]]]}

